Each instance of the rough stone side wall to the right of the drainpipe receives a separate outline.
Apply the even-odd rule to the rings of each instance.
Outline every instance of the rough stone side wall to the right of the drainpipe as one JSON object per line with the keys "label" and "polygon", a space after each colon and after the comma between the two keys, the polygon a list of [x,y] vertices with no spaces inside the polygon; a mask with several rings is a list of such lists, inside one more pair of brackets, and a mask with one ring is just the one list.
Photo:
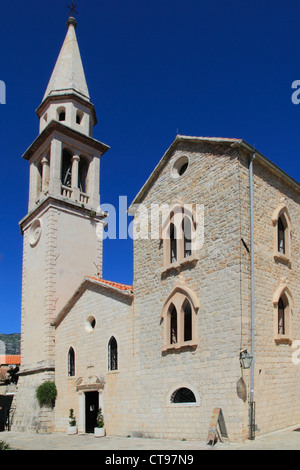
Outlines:
{"label": "rough stone side wall to the right of the drainpipe", "polygon": [[[246,233],[249,207],[248,163],[241,155],[242,226]],[[272,214],[284,203],[288,208],[292,232],[291,263],[274,258]],[[300,364],[292,360],[293,341],[300,339],[300,194],[299,190],[254,160],[254,238],[255,238],[255,377],[257,434],[274,431],[300,422]],[[248,240],[249,237],[247,237]],[[250,245],[249,245],[250,246]],[[247,286],[247,257],[243,258],[243,285]],[[276,342],[273,296],[286,284],[294,300],[289,342]],[[248,296],[245,291],[244,311]],[[250,308],[250,304],[249,304]]]}

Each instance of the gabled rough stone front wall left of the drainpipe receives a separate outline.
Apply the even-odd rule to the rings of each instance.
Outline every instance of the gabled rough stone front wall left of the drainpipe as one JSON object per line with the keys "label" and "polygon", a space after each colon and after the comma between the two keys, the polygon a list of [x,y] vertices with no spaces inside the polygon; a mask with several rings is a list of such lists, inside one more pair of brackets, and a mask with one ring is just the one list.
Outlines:
{"label": "gabled rough stone front wall left of the drainpipe", "polygon": [[[183,155],[189,157],[189,168],[174,180],[173,164]],[[160,240],[134,243],[142,384],[138,409],[140,431],[146,436],[206,439],[215,407],[222,408],[231,439],[247,432],[247,404],[236,391],[241,375],[241,322],[248,319],[241,317],[240,183],[235,155],[235,150],[224,146],[180,144],[143,201],[147,205],[172,204],[180,198],[185,204],[203,204],[205,217],[199,260],[196,266],[182,268],[180,274],[161,274]],[[161,311],[178,279],[200,303],[198,346],[162,354]],[[170,403],[171,393],[180,386],[198,393],[196,406]]]}

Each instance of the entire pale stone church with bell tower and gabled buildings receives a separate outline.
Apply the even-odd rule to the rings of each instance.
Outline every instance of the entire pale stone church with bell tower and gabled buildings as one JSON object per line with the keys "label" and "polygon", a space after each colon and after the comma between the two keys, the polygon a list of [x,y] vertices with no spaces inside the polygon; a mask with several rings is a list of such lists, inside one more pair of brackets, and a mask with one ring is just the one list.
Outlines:
{"label": "entire pale stone church with bell tower and gabled buildings", "polygon": [[[231,441],[300,423],[299,183],[242,139],[177,135],[128,209],[133,285],[103,279],[109,146],[93,137],[76,28],[23,155],[12,429],[66,432],[72,408],[92,433],[100,407],[115,436],[206,440],[215,408]],[[55,406],[40,407],[49,380]]]}

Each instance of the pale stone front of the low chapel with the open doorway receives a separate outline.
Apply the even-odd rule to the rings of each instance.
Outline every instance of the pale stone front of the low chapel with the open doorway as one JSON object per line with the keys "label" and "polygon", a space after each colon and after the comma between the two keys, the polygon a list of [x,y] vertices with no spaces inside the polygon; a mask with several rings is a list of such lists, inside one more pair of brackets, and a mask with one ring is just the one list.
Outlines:
{"label": "pale stone front of the low chapel with the open doorway", "polygon": [[[135,403],[132,291],[87,278],[75,297],[55,321],[56,430],[66,431],[73,408],[78,430],[85,432],[85,393],[99,391],[107,432],[124,435]],[[91,316],[94,328],[89,325]],[[108,370],[111,337],[118,344],[117,370]],[[75,352],[74,376],[68,376],[70,347]]]}

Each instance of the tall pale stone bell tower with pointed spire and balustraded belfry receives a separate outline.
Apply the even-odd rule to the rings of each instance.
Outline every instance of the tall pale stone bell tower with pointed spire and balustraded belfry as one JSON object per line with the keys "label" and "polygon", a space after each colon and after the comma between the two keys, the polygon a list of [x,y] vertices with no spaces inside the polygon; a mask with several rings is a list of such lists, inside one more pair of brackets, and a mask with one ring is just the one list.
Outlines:
{"label": "tall pale stone bell tower with pointed spire and balustraded belfry", "polygon": [[93,138],[97,118],[76,27],[70,17],[36,111],[39,135],[23,155],[30,165],[30,182],[28,213],[20,222],[21,368],[14,430],[51,430],[52,413],[41,415],[35,391],[45,380],[55,381],[52,322],[85,275],[102,275],[100,160],[109,147]]}

